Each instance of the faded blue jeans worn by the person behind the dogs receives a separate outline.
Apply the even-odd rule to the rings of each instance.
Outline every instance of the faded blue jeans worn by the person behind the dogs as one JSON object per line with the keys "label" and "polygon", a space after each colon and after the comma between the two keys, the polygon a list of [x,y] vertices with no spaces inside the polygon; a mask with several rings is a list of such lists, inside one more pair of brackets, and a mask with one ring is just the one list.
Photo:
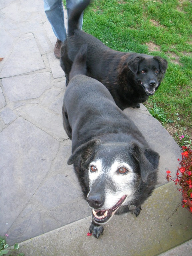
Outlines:
{"label": "faded blue jeans worn by the person behind the dogs", "polygon": [[[82,0],[66,0],[67,15],[71,10]],[[50,22],[55,36],[61,40],[65,41],[67,37],[65,23],[64,23],[64,12],[63,12],[63,2],[62,0],[44,0],[44,10],[48,21]],[[82,29],[83,25],[83,13],[80,17],[79,28]]]}

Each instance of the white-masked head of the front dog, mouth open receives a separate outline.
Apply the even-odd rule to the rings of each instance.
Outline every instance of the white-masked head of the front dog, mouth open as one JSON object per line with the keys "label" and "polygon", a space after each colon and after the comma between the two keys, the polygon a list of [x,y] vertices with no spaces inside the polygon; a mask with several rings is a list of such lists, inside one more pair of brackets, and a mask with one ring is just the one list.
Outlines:
{"label": "white-masked head of the front dog, mouth open", "polygon": [[89,186],[86,200],[98,224],[106,223],[119,207],[129,204],[138,187],[150,181],[159,163],[158,153],[134,141],[89,141],[74,151],[68,164],[79,157]]}

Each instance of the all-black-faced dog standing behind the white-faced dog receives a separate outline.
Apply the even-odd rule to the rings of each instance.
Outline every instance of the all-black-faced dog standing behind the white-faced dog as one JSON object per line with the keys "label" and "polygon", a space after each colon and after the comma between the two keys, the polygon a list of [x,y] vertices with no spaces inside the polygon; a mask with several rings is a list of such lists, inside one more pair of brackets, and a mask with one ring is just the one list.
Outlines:
{"label": "all-black-faced dog standing behind the white-faced dog", "polygon": [[82,44],[88,44],[87,76],[110,91],[118,107],[139,107],[160,86],[167,61],[159,56],[114,51],[92,35],[78,29],[78,20],[90,0],[80,3],[68,20],[68,38],[61,47],[61,67],[66,85],[74,58]]}

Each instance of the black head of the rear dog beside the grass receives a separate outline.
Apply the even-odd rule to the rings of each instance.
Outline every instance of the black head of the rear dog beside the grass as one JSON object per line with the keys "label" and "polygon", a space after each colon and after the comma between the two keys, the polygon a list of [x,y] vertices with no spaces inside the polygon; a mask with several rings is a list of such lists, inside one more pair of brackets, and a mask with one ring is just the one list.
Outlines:
{"label": "black head of the rear dog beside the grass", "polygon": [[134,80],[145,93],[153,95],[167,70],[167,61],[159,56],[140,54],[128,62]]}

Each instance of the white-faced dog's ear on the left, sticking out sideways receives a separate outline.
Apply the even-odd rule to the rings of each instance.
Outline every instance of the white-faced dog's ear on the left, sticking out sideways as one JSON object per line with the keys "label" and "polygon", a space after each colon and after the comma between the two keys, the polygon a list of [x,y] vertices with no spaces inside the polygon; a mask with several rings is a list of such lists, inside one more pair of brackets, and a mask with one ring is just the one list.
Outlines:
{"label": "white-faced dog's ear on the left, sticking out sideways", "polygon": [[67,164],[68,165],[74,164],[75,160],[77,159],[77,157],[79,157],[79,155],[84,155],[84,157],[89,158],[92,154],[93,147],[99,144],[100,144],[100,140],[98,139],[90,140],[82,144],[69,157]]}

